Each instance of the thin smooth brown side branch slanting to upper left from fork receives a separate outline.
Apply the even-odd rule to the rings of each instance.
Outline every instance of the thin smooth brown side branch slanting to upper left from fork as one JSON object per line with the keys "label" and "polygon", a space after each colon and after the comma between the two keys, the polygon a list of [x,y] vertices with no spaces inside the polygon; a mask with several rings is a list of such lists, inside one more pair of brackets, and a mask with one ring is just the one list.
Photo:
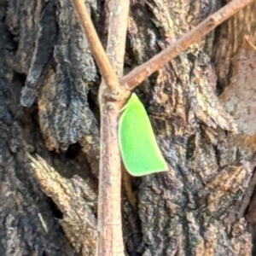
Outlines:
{"label": "thin smooth brown side branch slanting to upper left from fork", "polygon": [[117,90],[119,81],[113,71],[113,67],[108,60],[108,56],[102,47],[102,43],[97,36],[95,27],[90,20],[90,15],[84,4],[84,0],[73,0],[73,7],[79,16],[80,24],[83,28],[84,34],[89,41],[90,50],[92,55],[95,57],[96,63],[102,74],[102,78],[112,91]]}

